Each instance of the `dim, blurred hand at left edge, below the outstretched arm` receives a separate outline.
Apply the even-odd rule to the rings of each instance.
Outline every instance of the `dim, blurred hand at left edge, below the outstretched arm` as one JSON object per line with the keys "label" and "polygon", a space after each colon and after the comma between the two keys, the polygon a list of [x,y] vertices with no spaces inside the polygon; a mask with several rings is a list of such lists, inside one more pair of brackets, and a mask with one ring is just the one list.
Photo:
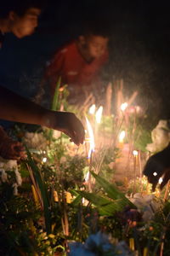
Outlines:
{"label": "dim, blurred hand at left edge, below the outstretched arm", "polygon": [[1,142],[0,156],[7,160],[20,160],[26,157],[26,151],[21,143],[7,137]]}

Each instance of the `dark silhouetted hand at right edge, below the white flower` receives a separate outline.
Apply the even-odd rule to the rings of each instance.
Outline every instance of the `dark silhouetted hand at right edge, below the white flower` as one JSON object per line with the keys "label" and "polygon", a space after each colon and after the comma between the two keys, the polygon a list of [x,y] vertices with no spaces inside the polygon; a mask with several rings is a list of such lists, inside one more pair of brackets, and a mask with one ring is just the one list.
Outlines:
{"label": "dark silhouetted hand at right edge, below the white flower", "polygon": [[149,158],[144,166],[144,175],[152,183],[153,190],[156,189],[156,185],[162,177],[160,188],[163,189],[170,179],[170,145]]}

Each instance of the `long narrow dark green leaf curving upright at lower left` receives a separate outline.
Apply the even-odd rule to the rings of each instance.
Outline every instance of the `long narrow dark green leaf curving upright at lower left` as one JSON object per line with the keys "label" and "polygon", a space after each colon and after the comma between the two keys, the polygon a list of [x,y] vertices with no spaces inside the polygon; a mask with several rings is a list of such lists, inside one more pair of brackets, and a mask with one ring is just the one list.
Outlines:
{"label": "long narrow dark green leaf curving upright at lower left", "polygon": [[48,234],[50,234],[51,233],[51,212],[50,212],[50,202],[48,198],[48,189],[43,180],[41,171],[39,170],[39,168],[31,158],[31,154],[28,148],[26,148],[26,153],[27,153],[27,164],[31,167],[31,170],[33,172],[33,175],[35,177],[35,180],[37,182],[38,188],[42,196],[46,231]]}

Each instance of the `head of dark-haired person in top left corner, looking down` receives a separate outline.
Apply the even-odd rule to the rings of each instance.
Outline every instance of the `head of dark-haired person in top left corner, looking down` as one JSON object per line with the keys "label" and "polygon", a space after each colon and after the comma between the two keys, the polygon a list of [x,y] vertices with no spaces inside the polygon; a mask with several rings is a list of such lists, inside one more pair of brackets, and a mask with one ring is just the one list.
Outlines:
{"label": "head of dark-haired person in top left corner, looking down", "polygon": [[40,0],[6,0],[0,10],[0,22],[3,32],[13,32],[17,38],[31,35],[37,27],[38,16],[41,14]]}

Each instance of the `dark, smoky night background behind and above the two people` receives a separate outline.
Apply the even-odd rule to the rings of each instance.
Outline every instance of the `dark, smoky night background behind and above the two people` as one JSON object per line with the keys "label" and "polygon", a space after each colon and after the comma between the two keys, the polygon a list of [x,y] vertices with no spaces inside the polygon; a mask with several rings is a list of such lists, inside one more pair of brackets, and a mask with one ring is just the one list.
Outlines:
{"label": "dark, smoky night background behind and above the two people", "polygon": [[137,104],[150,117],[170,118],[170,15],[169,1],[49,1],[37,32],[17,39],[5,38],[0,50],[0,82],[23,96],[37,93],[43,68],[54,51],[82,32],[88,20],[109,28],[110,63],[105,77],[123,79]]}

